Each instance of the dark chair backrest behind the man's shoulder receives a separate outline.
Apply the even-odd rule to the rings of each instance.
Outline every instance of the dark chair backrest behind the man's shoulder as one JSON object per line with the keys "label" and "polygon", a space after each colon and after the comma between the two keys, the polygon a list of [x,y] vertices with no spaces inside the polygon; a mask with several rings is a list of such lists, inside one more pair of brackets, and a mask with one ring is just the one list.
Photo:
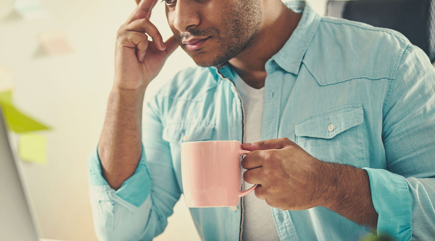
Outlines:
{"label": "dark chair backrest behind the man's shoulder", "polygon": [[435,62],[435,0],[329,0],[326,16],[394,29]]}

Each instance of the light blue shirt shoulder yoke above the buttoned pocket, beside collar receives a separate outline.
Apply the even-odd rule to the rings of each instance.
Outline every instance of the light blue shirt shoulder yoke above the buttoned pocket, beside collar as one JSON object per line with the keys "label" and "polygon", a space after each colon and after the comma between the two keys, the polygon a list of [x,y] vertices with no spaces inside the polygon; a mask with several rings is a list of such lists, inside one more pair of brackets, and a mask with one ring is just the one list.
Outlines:
{"label": "light blue shirt shoulder yoke above the buttoned pocket, beside collar", "polygon": [[320,85],[353,78],[395,79],[410,44],[393,29],[322,17],[303,63]]}

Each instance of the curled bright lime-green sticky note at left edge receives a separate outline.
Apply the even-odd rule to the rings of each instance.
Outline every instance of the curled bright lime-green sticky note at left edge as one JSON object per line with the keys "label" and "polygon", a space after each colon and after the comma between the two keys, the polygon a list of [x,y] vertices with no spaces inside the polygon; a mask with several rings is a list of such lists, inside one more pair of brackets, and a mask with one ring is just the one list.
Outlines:
{"label": "curled bright lime-green sticky note at left edge", "polygon": [[11,91],[0,92],[0,105],[6,119],[6,127],[8,130],[12,129],[17,133],[22,133],[50,129],[50,127],[47,127],[18,111],[12,103]]}

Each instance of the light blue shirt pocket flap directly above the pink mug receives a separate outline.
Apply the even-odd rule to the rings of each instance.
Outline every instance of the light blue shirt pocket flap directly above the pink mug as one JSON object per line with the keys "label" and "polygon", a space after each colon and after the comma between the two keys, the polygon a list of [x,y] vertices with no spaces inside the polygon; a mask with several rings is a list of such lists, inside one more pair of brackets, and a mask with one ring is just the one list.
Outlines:
{"label": "light blue shirt pocket flap directly above the pink mug", "polygon": [[213,125],[169,125],[163,128],[162,138],[167,142],[186,142],[197,140],[210,140]]}

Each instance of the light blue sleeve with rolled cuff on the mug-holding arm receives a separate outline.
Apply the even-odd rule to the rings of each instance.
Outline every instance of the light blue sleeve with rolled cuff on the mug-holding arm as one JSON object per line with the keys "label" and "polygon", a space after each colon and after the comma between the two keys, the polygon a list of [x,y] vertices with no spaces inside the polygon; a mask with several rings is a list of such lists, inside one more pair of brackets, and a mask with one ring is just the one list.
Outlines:
{"label": "light blue sleeve with rolled cuff on the mug-holding arm", "polygon": [[364,168],[377,231],[398,240],[434,240],[435,68],[422,49],[405,49],[383,113],[388,168]]}

